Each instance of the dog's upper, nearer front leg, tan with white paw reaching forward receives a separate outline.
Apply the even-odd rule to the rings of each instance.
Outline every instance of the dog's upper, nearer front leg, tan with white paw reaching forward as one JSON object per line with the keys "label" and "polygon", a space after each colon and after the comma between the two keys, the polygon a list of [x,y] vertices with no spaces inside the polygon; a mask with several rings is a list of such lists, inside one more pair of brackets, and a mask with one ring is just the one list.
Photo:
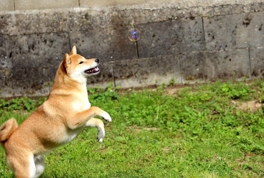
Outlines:
{"label": "dog's upper, nearer front leg, tan with white paw reaching forward", "polygon": [[101,110],[98,107],[93,106],[87,110],[78,112],[71,119],[68,119],[67,120],[68,127],[74,130],[80,127],[81,125],[83,125],[84,123],[86,123],[89,119],[91,119],[94,116],[100,116],[107,122],[112,122],[112,119],[107,112]]}

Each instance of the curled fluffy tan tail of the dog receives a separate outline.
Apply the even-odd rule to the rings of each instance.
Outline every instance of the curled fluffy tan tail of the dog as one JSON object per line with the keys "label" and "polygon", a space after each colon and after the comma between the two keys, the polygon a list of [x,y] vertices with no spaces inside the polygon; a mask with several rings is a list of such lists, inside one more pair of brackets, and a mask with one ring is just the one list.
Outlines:
{"label": "curled fluffy tan tail of the dog", "polygon": [[0,126],[0,142],[4,142],[9,139],[11,134],[16,130],[17,126],[17,122],[14,118],[11,118],[4,122]]}

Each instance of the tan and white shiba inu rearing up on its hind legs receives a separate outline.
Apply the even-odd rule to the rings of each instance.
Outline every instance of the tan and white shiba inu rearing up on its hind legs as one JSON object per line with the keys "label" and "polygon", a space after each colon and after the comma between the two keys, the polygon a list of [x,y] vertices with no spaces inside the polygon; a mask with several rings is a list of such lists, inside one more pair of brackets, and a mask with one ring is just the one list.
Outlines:
{"label": "tan and white shiba inu rearing up on its hind legs", "polygon": [[97,127],[97,140],[103,141],[103,121],[94,116],[112,120],[91,107],[86,88],[87,77],[100,72],[98,64],[98,59],[76,54],[74,46],[60,63],[48,99],[20,126],[14,118],[2,124],[0,143],[15,177],[39,177],[45,168],[43,155],[72,141],[84,127]]}

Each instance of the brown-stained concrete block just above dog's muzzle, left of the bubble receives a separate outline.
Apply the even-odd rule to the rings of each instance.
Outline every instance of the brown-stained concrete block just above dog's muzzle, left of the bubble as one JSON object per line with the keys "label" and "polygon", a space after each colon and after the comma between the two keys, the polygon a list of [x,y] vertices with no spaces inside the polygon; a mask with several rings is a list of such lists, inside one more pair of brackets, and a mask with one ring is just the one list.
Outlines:
{"label": "brown-stained concrete block just above dog's muzzle, left of the bubble", "polygon": [[136,46],[127,37],[133,26],[111,26],[107,29],[96,28],[88,31],[70,32],[71,45],[86,59],[99,58],[104,61],[135,59]]}

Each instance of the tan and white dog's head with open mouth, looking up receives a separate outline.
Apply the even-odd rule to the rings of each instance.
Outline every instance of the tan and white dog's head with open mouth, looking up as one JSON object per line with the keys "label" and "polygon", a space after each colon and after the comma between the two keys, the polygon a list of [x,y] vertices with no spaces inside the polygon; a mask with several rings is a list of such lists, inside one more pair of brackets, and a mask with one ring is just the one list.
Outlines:
{"label": "tan and white dog's head with open mouth, looking up", "polygon": [[67,71],[67,75],[71,78],[82,78],[91,75],[97,75],[100,70],[99,59],[86,59],[81,55],[77,55],[76,47],[73,46],[72,51],[64,56],[63,63]]}

